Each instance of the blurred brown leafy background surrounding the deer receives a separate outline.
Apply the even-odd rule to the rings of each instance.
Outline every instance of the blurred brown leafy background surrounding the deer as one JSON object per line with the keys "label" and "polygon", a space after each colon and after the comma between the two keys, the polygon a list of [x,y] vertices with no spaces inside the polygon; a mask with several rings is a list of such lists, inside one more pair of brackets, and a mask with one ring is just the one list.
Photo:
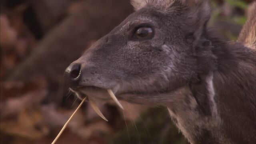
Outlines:
{"label": "blurred brown leafy background surrounding the deer", "polygon": [[[210,26],[236,40],[252,0],[211,0]],[[133,12],[129,0],[0,0],[0,143],[50,144],[80,103],[65,68]],[[187,144],[166,108],[85,103],[57,144]]]}

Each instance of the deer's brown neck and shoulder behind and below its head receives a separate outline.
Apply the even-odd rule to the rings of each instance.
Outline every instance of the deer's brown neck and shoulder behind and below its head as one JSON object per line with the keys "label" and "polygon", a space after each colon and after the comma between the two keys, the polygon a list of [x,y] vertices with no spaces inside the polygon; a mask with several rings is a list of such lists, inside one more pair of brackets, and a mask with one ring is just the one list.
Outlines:
{"label": "deer's brown neck and shoulder behind and below its head", "polygon": [[255,140],[256,130],[251,128],[256,126],[255,52],[226,44],[213,55],[218,61],[212,72],[167,105],[172,120],[192,144]]}

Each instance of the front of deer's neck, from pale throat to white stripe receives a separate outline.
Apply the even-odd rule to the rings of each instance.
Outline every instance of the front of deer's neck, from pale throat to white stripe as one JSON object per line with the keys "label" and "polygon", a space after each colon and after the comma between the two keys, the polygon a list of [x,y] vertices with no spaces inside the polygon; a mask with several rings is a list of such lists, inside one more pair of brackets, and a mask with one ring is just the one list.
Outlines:
{"label": "front of deer's neck, from pale throat to white stripe", "polygon": [[222,122],[213,80],[209,74],[201,84],[183,89],[183,98],[167,106],[172,121],[192,144],[229,143],[220,142]]}

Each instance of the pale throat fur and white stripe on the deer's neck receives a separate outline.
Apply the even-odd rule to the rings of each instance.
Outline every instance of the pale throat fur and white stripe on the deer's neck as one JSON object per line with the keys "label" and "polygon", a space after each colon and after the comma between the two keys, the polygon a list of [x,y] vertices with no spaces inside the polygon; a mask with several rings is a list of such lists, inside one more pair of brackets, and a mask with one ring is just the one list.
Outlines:
{"label": "pale throat fur and white stripe on the deer's neck", "polygon": [[[213,74],[210,74],[206,78],[206,84],[208,90],[208,95],[206,94],[206,96],[208,96],[210,102],[212,116],[203,116],[200,114],[196,109],[198,104],[191,92],[184,93],[187,97],[185,95],[176,96],[179,97],[180,100],[167,106],[170,115],[177,120],[177,127],[191,143],[194,142],[193,135],[196,135],[196,133],[200,134],[200,129],[198,128],[214,132],[214,135],[224,140],[221,133],[218,133],[221,131],[221,119],[218,115],[217,105],[214,100],[216,93],[213,85]],[[189,100],[190,103],[186,103],[185,100]]]}

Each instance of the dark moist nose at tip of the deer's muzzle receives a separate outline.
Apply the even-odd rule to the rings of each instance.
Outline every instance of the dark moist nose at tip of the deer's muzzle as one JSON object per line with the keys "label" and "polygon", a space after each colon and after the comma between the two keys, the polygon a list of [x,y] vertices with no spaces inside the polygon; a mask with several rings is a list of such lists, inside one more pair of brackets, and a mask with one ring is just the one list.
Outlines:
{"label": "dark moist nose at tip of the deer's muzzle", "polygon": [[80,74],[81,73],[81,64],[74,63],[70,64],[68,68],[66,68],[64,72],[64,76],[66,79],[66,82],[70,85],[71,88],[75,88],[78,85],[78,82],[80,80]]}

